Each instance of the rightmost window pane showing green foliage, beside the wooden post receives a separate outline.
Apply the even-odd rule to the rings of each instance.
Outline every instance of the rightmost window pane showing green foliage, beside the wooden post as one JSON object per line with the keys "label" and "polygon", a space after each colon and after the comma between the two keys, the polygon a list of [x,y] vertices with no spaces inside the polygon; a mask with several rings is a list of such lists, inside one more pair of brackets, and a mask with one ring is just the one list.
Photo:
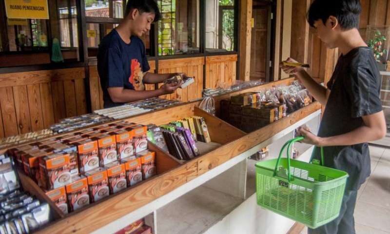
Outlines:
{"label": "rightmost window pane showing green foliage, beside the wooden post", "polygon": [[206,0],[206,51],[234,51],[234,0]]}

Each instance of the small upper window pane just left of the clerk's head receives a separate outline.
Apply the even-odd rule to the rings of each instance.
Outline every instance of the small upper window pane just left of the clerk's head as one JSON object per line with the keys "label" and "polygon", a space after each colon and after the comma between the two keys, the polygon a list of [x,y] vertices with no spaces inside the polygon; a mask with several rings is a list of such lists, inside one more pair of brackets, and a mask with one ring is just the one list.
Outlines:
{"label": "small upper window pane just left of the clerk's head", "polygon": [[123,18],[123,0],[85,0],[86,17]]}

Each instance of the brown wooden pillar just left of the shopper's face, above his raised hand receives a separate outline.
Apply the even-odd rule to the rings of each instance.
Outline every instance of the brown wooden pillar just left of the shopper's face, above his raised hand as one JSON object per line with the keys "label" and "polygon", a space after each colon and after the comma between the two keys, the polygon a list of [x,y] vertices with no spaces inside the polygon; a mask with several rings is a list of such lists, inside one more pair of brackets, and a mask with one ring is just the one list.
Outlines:
{"label": "brown wooden pillar just left of the shopper's face, above his raised hand", "polygon": [[292,0],[291,57],[306,63],[309,48],[309,23],[306,14],[310,0]]}

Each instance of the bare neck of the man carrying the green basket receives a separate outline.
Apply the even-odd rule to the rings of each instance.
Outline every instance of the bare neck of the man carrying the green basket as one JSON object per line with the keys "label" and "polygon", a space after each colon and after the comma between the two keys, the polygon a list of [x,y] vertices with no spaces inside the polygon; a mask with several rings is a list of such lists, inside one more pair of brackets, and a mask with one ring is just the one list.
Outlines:
{"label": "bare neck of the man carrying the green basket", "polygon": [[348,52],[356,47],[367,46],[366,42],[364,42],[356,28],[342,31],[337,41],[339,41],[337,43],[337,47],[343,55],[348,54]]}

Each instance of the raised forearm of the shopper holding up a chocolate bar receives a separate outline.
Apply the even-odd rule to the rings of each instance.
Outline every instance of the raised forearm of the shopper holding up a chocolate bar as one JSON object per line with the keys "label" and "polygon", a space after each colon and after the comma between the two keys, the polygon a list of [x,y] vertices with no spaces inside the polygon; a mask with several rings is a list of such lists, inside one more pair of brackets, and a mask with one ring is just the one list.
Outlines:
{"label": "raised forearm of the shopper holding up a chocolate bar", "polygon": [[322,105],[326,105],[328,100],[326,94],[326,88],[319,83],[317,83],[305,70],[296,74],[297,78],[302,82],[303,86],[305,86],[309,93]]}

